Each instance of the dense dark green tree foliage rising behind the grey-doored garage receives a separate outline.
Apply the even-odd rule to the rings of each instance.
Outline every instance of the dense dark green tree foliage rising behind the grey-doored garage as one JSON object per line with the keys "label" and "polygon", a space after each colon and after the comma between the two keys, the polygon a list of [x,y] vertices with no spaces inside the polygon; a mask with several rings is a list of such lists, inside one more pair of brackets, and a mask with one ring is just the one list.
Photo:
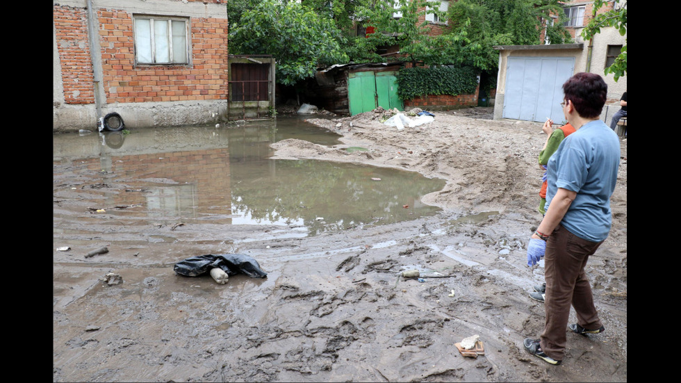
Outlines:
{"label": "dense dark green tree foliage rising behind the grey-doored garage", "polygon": [[[551,15],[559,19],[545,26]],[[558,0],[458,0],[450,1],[448,20],[454,38],[450,55],[480,70],[497,70],[495,45],[543,44],[546,31],[552,44],[570,42],[563,26],[564,11]]]}

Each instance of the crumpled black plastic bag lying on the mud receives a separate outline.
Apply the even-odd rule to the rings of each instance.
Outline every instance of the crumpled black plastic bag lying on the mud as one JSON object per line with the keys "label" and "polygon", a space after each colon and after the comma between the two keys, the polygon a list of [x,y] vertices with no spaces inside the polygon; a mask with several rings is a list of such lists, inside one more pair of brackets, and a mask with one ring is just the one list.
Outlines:
{"label": "crumpled black plastic bag lying on the mud", "polygon": [[206,254],[192,256],[175,263],[173,270],[179,275],[197,277],[212,268],[221,268],[230,277],[236,274],[245,274],[252,278],[264,278],[268,273],[260,268],[258,261],[243,254]]}

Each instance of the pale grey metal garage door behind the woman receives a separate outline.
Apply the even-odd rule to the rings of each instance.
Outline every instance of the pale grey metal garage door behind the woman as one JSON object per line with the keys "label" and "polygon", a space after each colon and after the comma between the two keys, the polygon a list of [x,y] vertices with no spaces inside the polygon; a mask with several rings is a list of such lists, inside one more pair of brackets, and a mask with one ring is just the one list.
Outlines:
{"label": "pale grey metal garage door behind the woman", "polygon": [[573,75],[574,57],[509,57],[504,118],[564,123],[563,83]]}

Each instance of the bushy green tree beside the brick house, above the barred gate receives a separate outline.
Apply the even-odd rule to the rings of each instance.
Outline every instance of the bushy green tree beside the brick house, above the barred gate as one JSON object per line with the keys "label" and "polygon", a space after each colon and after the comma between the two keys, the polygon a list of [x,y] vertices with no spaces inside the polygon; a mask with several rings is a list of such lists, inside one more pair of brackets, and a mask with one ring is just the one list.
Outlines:
{"label": "bushy green tree beside the brick house, above the barred gate", "polygon": [[246,3],[238,21],[230,25],[229,51],[272,55],[277,60],[277,83],[293,85],[314,76],[320,65],[347,63],[344,38],[333,19],[296,1]]}

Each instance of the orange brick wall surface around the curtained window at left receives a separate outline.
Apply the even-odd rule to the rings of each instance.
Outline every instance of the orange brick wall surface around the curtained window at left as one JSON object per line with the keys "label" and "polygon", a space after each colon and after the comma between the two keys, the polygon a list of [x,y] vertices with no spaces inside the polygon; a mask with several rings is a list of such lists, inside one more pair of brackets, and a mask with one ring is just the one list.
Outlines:
{"label": "orange brick wall surface around the curtained window at left", "polygon": [[[55,5],[53,13],[65,102],[92,104],[87,10]],[[132,13],[97,15],[107,103],[227,99],[227,19],[192,17],[190,66],[136,65]]]}

